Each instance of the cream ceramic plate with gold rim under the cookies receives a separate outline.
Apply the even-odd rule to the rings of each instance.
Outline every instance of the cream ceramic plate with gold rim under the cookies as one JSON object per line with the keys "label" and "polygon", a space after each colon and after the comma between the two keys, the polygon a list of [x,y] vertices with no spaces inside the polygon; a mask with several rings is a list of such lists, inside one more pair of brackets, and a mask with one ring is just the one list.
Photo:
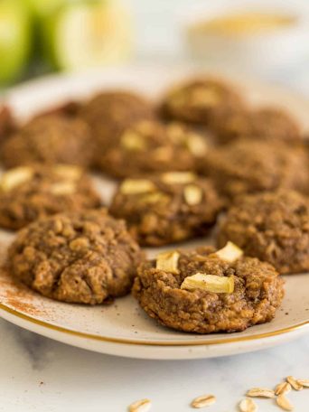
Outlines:
{"label": "cream ceramic plate with gold rim under the cookies", "polygon": [[[192,68],[129,67],[70,77],[36,80],[13,89],[8,101],[25,119],[37,110],[68,98],[86,97],[103,88],[138,89],[155,98],[166,85],[192,73]],[[238,80],[233,79],[238,82]],[[309,130],[309,103],[285,89],[241,80],[241,89],[252,104],[276,104],[294,113]],[[114,183],[95,178],[106,201]],[[12,237],[0,233],[4,243]],[[200,239],[183,245],[205,244]],[[149,249],[149,255],[158,250]],[[197,335],[174,332],[158,325],[139,309],[131,296],[114,304],[88,307],[61,304],[17,286],[0,272],[0,314],[9,322],[60,342],[103,353],[145,359],[193,359],[256,351],[287,342],[309,331],[309,275],[286,276],[286,297],[271,323],[240,333]]]}

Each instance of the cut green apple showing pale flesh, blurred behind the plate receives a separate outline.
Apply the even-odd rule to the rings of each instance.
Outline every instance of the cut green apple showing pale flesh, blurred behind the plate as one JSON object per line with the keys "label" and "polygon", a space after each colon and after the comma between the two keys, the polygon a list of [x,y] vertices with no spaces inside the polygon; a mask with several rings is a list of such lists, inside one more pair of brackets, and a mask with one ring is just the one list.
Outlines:
{"label": "cut green apple showing pale flesh, blurred behind the plate", "polygon": [[117,0],[70,0],[44,20],[44,48],[61,70],[82,70],[124,61],[132,25]]}

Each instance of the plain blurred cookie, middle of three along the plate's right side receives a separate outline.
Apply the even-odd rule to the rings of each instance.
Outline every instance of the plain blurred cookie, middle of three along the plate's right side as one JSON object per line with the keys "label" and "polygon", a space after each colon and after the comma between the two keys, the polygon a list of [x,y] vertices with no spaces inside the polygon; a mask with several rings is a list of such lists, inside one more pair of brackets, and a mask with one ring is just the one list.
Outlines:
{"label": "plain blurred cookie, middle of three along the plate's right side", "polygon": [[238,140],[210,149],[201,173],[211,176],[229,199],[279,187],[308,190],[308,159],[301,146]]}

